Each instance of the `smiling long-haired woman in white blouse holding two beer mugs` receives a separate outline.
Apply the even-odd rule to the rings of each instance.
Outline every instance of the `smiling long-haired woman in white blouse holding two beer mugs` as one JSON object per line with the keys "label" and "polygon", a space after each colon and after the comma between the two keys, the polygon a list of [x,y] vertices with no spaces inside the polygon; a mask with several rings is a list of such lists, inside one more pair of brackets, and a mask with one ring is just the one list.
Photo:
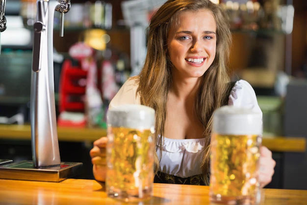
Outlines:
{"label": "smiling long-haired woman in white blouse holding two beer mugs", "polygon": [[[155,110],[155,182],[208,185],[213,112],[233,105],[262,114],[249,83],[230,83],[230,44],[226,15],[210,0],[168,0],[153,15],[144,67],[109,107],[141,104]],[[107,140],[102,137],[91,150],[94,176],[101,181]],[[268,149],[261,150],[264,186],[275,162]]]}

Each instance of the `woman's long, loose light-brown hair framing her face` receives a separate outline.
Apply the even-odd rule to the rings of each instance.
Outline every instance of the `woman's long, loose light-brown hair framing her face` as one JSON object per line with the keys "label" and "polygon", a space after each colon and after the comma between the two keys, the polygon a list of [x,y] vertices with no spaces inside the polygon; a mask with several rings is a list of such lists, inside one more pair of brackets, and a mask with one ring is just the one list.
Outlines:
{"label": "woman's long, loose light-brown hair framing her face", "polygon": [[[168,57],[167,38],[172,26],[179,24],[179,15],[184,11],[211,11],[216,22],[216,57],[202,77],[195,100],[195,113],[204,127],[206,149],[202,161],[204,176],[209,172],[210,133],[213,112],[225,104],[225,93],[229,89],[227,62],[231,33],[225,13],[210,0],[168,0],[153,15],[148,33],[148,52],[144,68],[139,75],[138,92],[141,104],[152,107],[156,112],[156,136],[163,136],[166,119],[166,101],[172,87],[172,62]],[[161,148],[161,138],[156,138]],[[161,150],[161,149],[160,149]],[[159,160],[155,159],[156,171]]]}

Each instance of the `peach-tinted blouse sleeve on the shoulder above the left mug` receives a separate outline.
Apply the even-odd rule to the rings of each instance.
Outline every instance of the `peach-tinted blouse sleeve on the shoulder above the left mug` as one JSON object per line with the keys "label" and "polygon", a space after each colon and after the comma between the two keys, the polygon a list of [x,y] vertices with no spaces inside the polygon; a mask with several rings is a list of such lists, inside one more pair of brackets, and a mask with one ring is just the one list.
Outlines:
{"label": "peach-tinted blouse sleeve on the shoulder above the left mug", "polygon": [[123,104],[140,104],[140,95],[137,92],[139,77],[130,77],[119,89],[109,104],[109,108]]}

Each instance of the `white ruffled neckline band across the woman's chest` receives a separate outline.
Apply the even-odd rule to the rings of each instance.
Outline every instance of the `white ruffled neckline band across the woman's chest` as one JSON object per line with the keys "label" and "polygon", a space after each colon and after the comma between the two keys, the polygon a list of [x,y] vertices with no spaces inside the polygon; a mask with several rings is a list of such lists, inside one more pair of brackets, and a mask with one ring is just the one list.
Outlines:
{"label": "white ruffled neckline band across the woman's chest", "polygon": [[205,138],[177,140],[162,137],[162,139],[164,139],[162,149],[172,153],[181,152],[183,150],[197,153],[199,150],[203,150],[205,147]]}

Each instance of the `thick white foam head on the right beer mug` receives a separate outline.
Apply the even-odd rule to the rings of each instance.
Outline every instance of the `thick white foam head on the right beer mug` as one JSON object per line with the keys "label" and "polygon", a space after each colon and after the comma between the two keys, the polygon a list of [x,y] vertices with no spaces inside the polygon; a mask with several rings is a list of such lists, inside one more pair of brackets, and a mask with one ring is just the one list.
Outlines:
{"label": "thick white foam head on the right beer mug", "polygon": [[247,108],[223,106],[213,114],[212,131],[228,135],[262,135],[262,115]]}

